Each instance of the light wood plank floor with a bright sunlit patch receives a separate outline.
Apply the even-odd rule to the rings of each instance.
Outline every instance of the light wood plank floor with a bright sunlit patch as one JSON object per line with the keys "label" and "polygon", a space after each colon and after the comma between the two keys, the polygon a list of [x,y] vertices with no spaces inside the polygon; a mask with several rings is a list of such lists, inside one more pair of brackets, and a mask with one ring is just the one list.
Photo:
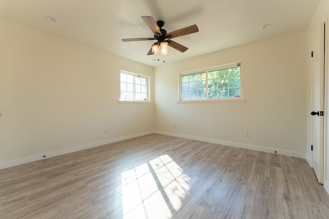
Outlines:
{"label": "light wood plank floor with a bright sunlit patch", "polygon": [[0,170],[0,218],[329,218],[300,158],[151,134]]}

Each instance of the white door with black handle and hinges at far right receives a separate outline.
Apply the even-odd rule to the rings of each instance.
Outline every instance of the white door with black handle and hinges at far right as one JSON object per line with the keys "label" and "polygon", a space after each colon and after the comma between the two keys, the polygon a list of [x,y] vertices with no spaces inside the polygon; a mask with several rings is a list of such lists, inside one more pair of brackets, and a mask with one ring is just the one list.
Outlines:
{"label": "white door with black handle and hinges at far right", "polygon": [[323,184],[324,157],[324,23],[313,38],[313,95],[312,104],[312,167],[319,183]]}

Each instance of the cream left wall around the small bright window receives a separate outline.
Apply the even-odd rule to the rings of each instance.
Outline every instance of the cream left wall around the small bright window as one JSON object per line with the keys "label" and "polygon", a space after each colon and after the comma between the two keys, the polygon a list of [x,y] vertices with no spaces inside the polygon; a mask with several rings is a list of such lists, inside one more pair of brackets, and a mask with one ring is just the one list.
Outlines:
{"label": "cream left wall around the small bright window", "polygon": [[153,104],[118,103],[120,70],[153,78],[153,67],[4,20],[0,27],[0,168],[154,130]]}

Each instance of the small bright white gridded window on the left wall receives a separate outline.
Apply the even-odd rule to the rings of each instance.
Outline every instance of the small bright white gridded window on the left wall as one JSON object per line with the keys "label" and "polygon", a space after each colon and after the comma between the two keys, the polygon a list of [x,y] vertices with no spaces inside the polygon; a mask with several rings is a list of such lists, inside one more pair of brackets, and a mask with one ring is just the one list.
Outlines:
{"label": "small bright white gridded window on the left wall", "polygon": [[121,71],[120,73],[120,101],[149,101],[149,77]]}

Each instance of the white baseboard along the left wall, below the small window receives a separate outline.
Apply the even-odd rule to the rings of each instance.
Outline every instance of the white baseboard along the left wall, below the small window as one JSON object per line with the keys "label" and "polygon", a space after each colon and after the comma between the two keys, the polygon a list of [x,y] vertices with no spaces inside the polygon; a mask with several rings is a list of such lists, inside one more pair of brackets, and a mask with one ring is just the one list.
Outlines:
{"label": "white baseboard along the left wall, below the small window", "polygon": [[[84,150],[84,149],[94,148],[94,147],[98,147],[98,146],[102,146],[102,145],[107,145],[107,144],[111,144],[111,143],[114,143],[114,142],[120,142],[120,141],[127,140],[127,139],[130,139],[130,138],[139,137],[139,136],[152,134],[152,133],[154,133],[154,132],[152,132],[152,131],[142,132],[142,133],[127,135],[127,136],[112,138],[112,139],[101,141],[101,142],[95,142],[95,143],[91,143],[91,144],[80,145],[80,146],[77,146],[77,147],[67,148],[67,149],[64,149],[64,150],[45,152],[43,154],[33,155],[33,156],[29,156],[29,157],[24,157],[22,159],[17,159],[17,160],[12,160],[12,161],[7,161],[7,162],[0,163],[0,169],[5,169],[5,168],[8,168],[8,167],[13,167],[13,166],[21,165],[21,164],[26,164],[26,163],[30,163],[30,162],[33,162],[33,161],[40,161],[40,160],[43,160],[45,158],[59,156],[59,155],[63,155],[63,154],[71,153],[71,152],[76,152],[76,151],[81,151],[81,150]],[[43,157],[43,156],[45,156],[45,157]]]}

